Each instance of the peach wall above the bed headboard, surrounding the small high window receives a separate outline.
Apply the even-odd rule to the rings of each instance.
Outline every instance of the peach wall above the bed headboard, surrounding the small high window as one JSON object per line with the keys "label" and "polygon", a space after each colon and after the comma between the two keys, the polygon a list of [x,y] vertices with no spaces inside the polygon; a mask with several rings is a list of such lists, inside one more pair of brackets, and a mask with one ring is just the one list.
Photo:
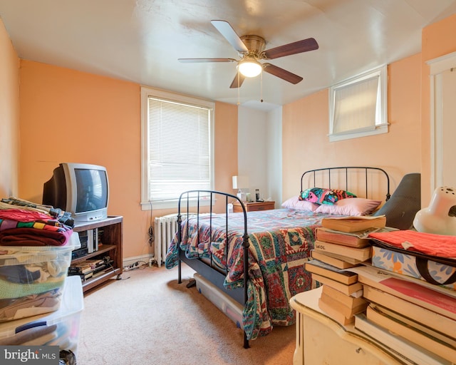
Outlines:
{"label": "peach wall above the bed headboard, surrounding the small high window", "polygon": [[369,165],[385,169],[394,190],[406,173],[420,172],[420,54],[388,66],[389,132],[328,140],[328,89],[283,108],[283,199],[297,195],[305,170]]}

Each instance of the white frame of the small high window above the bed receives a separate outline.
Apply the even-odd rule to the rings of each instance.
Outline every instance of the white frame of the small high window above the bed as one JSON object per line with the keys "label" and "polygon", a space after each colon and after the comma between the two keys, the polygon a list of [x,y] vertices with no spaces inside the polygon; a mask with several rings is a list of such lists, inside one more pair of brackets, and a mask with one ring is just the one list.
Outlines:
{"label": "white frame of the small high window above the bed", "polygon": [[[335,125],[336,93],[341,88],[356,88],[360,83],[370,79],[378,78],[377,101],[375,105],[375,125],[365,128],[348,129],[343,133],[333,133]],[[381,66],[348,80],[337,83],[329,89],[329,141],[347,140],[350,138],[366,137],[388,133],[388,67]]]}

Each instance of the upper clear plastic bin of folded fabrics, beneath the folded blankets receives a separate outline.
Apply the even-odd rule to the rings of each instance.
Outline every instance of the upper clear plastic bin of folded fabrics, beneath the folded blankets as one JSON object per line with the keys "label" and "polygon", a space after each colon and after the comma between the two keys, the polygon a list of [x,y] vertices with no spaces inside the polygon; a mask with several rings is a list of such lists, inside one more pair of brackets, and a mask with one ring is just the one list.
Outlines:
{"label": "upper clear plastic bin of folded fabrics, beneath the folded blankets", "polygon": [[76,236],[65,246],[0,246],[0,322],[60,307]]}

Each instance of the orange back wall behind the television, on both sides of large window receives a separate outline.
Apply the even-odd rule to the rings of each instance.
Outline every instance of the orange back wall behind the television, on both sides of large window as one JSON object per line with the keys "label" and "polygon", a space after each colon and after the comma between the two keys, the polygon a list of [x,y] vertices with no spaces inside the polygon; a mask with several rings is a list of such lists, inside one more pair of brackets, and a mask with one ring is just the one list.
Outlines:
{"label": "orange back wall behind the television, on both sides of large window", "polygon": [[[124,217],[124,257],[153,252],[149,211],[140,209],[140,86],[21,61],[20,197],[41,202],[43,183],[61,162],[108,169],[110,215]],[[237,106],[216,104],[216,187],[237,173]],[[224,165],[222,165],[224,163]],[[226,169],[226,170],[225,170]],[[175,210],[154,210],[152,218]]]}

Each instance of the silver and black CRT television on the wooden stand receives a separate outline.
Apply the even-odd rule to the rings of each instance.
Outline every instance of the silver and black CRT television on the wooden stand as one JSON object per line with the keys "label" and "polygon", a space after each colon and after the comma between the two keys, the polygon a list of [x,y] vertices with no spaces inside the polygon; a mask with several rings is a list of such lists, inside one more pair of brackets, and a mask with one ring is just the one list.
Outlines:
{"label": "silver and black CRT television on the wooden stand", "polygon": [[43,185],[43,204],[71,212],[75,225],[108,217],[106,168],[86,163],[61,163]]}

